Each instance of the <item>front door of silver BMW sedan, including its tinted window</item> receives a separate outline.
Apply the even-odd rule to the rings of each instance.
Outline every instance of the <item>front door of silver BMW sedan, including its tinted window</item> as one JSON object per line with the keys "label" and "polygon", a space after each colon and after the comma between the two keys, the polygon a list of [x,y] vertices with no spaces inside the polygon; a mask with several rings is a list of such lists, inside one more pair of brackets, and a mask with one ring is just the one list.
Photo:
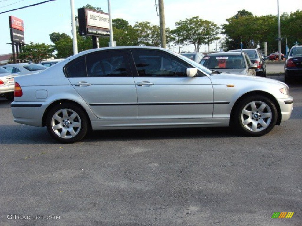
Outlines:
{"label": "front door of silver BMW sedan, including its tinted window", "polygon": [[213,88],[206,76],[187,77],[188,65],[160,51],[132,50],[139,119],[212,118]]}

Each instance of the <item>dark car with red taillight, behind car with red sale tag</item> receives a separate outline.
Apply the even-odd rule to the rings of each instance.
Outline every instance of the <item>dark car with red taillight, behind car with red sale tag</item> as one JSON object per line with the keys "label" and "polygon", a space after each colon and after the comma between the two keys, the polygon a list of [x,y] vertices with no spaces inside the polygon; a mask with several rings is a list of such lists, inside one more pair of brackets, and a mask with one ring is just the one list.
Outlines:
{"label": "dark car with red taillight, behind car with red sale tag", "polygon": [[266,64],[264,59],[262,58],[261,53],[257,49],[236,49],[230,50],[229,52],[245,52],[253,64],[257,65],[256,76],[266,77]]}

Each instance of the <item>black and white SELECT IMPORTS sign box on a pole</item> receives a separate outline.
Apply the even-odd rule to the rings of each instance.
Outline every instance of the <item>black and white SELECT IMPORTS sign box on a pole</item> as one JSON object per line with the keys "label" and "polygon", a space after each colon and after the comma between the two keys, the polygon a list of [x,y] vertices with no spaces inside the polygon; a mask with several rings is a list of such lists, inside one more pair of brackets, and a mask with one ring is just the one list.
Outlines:
{"label": "black and white SELECT IMPORTS sign box on a pole", "polygon": [[108,13],[79,8],[78,17],[80,35],[110,36]]}

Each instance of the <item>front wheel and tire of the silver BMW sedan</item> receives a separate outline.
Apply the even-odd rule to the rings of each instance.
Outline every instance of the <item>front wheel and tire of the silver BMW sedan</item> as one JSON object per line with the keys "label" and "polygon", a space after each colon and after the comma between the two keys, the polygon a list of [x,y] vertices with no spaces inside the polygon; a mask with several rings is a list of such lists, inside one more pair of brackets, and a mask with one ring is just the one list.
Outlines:
{"label": "front wheel and tire of the silver BMW sedan", "polygon": [[233,116],[233,123],[239,134],[256,137],[265,135],[274,128],[277,109],[269,98],[254,95],[241,100]]}

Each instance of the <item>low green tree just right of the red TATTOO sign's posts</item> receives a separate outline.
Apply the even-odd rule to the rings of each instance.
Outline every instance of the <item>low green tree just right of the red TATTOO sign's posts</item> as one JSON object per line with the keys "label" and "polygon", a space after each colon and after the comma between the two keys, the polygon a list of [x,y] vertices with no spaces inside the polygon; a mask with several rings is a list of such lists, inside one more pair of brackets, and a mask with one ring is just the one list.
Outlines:
{"label": "low green tree just right of the red TATTOO sign's posts", "polygon": [[19,58],[25,61],[40,63],[43,59],[53,57],[53,52],[54,48],[51,45],[30,42],[30,44],[23,47],[22,52],[19,54]]}

